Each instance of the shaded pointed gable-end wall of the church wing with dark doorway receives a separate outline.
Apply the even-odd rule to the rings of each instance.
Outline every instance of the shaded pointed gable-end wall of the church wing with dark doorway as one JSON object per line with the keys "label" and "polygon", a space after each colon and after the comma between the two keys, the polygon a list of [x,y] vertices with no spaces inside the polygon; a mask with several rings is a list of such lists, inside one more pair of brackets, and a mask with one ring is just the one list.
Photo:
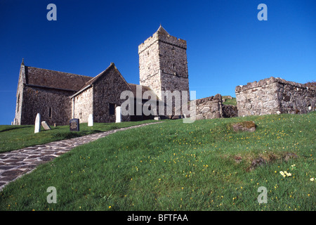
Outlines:
{"label": "shaded pointed gable-end wall of the church wing with dark doorway", "polygon": [[[115,65],[111,65],[105,74],[93,84],[93,121],[115,122],[115,114],[110,115],[110,104],[120,106],[126,101],[120,99],[121,92],[131,90],[121,77]],[[121,121],[130,121],[131,116],[122,116]]]}

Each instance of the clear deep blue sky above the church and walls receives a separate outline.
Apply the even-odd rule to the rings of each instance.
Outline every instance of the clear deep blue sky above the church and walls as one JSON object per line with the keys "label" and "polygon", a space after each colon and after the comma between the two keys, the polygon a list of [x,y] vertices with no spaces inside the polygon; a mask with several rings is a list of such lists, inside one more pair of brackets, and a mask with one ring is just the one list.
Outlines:
{"label": "clear deep blue sky above the church and walls", "polygon": [[[57,6],[48,21],[46,6]],[[268,6],[259,21],[258,4]],[[159,25],[187,41],[190,90],[235,96],[267,77],[316,80],[316,1],[0,0],[0,124],[11,124],[25,65],[94,77],[115,63],[139,84],[138,45]]]}

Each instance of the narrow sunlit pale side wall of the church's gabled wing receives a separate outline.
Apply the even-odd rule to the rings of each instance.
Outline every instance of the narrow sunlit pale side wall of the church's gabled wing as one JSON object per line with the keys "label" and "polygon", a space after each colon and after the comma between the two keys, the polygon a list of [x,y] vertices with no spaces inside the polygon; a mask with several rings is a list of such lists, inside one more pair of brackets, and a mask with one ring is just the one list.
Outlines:
{"label": "narrow sunlit pale side wall of the church's gabled wing", "polygon": [[92,86],[72,98],[72,117],[79,122],[88,122],[89,114],[93,115],[93,88]]}

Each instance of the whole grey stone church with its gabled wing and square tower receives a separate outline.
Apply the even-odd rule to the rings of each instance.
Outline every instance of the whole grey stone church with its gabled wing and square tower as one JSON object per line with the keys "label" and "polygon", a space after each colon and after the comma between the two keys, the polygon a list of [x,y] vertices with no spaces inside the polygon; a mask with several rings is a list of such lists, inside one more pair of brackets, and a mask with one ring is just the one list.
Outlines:
{"label": "whole grey stone church with its gabled wing and square tower", "polygon": [[[140,44],[142,91],[153,91],[159,101],[164,101],[162,91],[189,93],[186,49],[185,40],[171,36],[162,26]],[[65,125],[72,118],[87,122],[89,114],[94,122],[115,122],[115,108],[125,101],[120,95],[126,90],[135,93],[136,84],[127,83],[114,63],[96,77],[88,77],[34,68],[22,61],[14,124],[34,124],[37,113],[48,124]],[[144,101],[147,99],[141,99]],[[152,117],[126,115],[121,120],[149,118]]]}

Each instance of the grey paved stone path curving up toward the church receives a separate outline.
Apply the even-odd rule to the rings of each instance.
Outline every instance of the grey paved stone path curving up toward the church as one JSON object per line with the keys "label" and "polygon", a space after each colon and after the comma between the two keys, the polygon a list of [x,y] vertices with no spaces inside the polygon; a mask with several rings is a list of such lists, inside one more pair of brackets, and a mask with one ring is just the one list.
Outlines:
{"label": "grey paved stone path curving up toward the church", "polygon": [[150,124],[157,123],[160,122],[140,124],[133,127],[124,127],[97,134],[80,136],[74,139],[53,141],[51,143],[45,143],[38,146],[22,148],[20,150],[13,150],[7,153],[0,153],[0,191],[9,182],[18,179],[23,174],[32,172],[32,170],[34,170],[37,165],[49,162],[54,158],[62,155],[63,153],[67,153],[74,147],[81,146],[91,141],[95,141],[96,139],[103,138],[117,131],[124,131],[126,129],[144,127]]}

